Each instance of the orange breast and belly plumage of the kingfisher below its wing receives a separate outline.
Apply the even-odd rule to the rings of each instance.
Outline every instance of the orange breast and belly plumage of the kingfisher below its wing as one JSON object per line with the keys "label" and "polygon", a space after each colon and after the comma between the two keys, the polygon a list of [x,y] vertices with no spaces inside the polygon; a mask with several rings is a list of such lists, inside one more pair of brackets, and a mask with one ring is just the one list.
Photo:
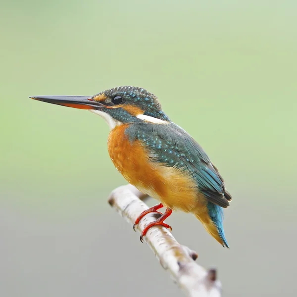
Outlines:
{"label": "orange breast and belly plumage of the kingfisher below its wing", "polygon": [[129,141],[125,135],[127,127],[126,124],[117,126],[108,136],[110,158],[124,178],[171,209],[205,212],[205,198],[198,192],[191,174],[154,162],[152,153],[140,141]]}

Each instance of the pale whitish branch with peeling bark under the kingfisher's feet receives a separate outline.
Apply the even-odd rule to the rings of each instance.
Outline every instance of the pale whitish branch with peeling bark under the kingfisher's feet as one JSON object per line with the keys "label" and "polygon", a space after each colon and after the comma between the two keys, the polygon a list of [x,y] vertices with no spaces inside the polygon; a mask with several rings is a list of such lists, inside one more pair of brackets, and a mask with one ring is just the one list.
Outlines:
{"label": "pale whitish branch with peeling bark under the kingfisher's feet", "polygon": [[[148,196],[131,185],[115,189],[109,204],[115,208],[131,225],[141,212],[148,209],[143,199]],[[147,224],[156,220],[153,213],[141,219],[137,229],[142,232]],[[131,228],[132,229],[132,228]],[[148,230],[144,237],[148,246],[167,269],[178,286],[189,297],[220,297],[221,283],[216,279],[216,270],[206,271],[195,260],[198,254],[189,247],[180,245],[165,227],[156,226]]]}

